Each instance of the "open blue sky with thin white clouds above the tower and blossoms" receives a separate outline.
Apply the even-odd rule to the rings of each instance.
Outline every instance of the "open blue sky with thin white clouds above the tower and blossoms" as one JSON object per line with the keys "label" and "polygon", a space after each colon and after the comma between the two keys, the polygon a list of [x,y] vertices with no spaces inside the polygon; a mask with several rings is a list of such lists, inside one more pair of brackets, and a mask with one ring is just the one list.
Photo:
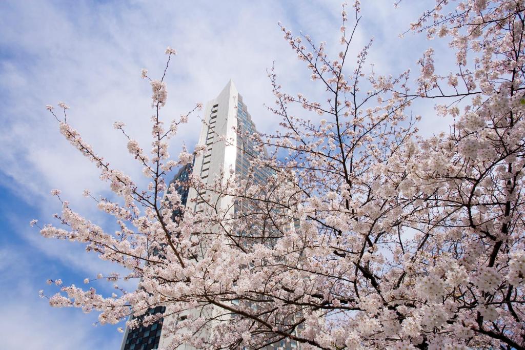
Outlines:
{"label": "open blue sky with thin white clouds above the tower and blossoms", "polygon": [[[422,12],[422,2],[366,1],[363,25],[355,38],[358,52],[375,37],[369,62],[379,72],[399,73],[415,62],[428,43],[422,36],[397,34]],[[432,5],[432,2],[428,2]],[[350,12],[350,11],[349,11]],[[349,16],[352,18],[352,16]],[[0,339],[6,349],[116,349],[117,326],[93,327],[96,315],[80,310],[53,309],[38,298],[48,293],[46,279],[82,284],[86,277],[115,269],[80,245],[44,239],[28,226],[36,218],[52,222],[60,204],[53,188],[72,207],[93,221],[110,225],[92,201],[81,196],[89,188],[108,195],[98,173],[61,137],[46,104],[65,101],[70,123],[116,168],[140,181],[141,167],[127,154],[121,135],[112,129],[120,120],[148,149],[150,87],[141,68],[152,76],[163,69],[166,46],[178,56],[169,71],[166,119],[196,102],[214,98],[232,78],[248,104],[257,128],[272,131],[278,120],[264,103],[274,100],[265,70],[276,62],[279,80],[290,93],[313,98],[322,90],[309,79],[282,39],[277,22],[328,41],[339,51],[339,1],[16,1],[0,2]],[[438,57],[446,70],[448,56]],[[443,129],[432,105],[419,105],[423,132]],[[176,154],[183,142],[192,147],[199,120],[193,118],[171,144]],[[111,227],[111,226],[109,226]],[[95,285],[111,293],[112,283]],[[133,289],[132,282],[125,285]]]}

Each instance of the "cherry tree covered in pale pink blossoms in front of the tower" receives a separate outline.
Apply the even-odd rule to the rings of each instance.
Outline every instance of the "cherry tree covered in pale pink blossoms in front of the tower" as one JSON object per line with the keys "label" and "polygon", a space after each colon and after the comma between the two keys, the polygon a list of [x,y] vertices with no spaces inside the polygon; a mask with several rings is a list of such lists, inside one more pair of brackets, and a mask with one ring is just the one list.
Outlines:
{"label": "cherry tree covered in pale pink blossoms in front of the tower", "polygon": [[[304,349],[524,348],[525,4],[436,0],[411,30],[449,38],[450,51],[439,55],[455,54],[456,66],[436,72],[429,49],[415,79],[408,70],[380,76],[367,69],[372,42],[351,57],[360,19],[359,1],[343,5],[336,58],[326,43],[280,25],[324,99],[283,92],[269,70],[276,103],[268,109],[280,128],[239,130],[239,137],[256,145],[251,167],[273,175],[264,183],[231,169],[217,169],[210,183],[191,176],[185,185],[206,193],[194,199],[204,201],[203,211],[181,206],[164,180],[205,149],[197,145],[170,160],[170,137],[202,106],[166,128],[165,72],[160,80],[142,72],[153,92],[151,152],[114,124],[147,188],[80,137],[67,105],[59,104],[60,113],[48,106],[60,132],[118,198],[85,193],[120,230],[93,224],[54,190],[62,202],[59,225],[45,225],[41,234],[85,243],[130,271],[97,278],[140,279],[136,291],[110,296],[50,280],[60,289],[50,304],[97,311],[102,324],[143,316],[128,321],[132,327],[189,312],[165,322],[169,348],[281,341]],[[169,63],[176,52],[166,54]],[[425,99],[436,102],[449,132],[418,134],[421,119],[436,118],[411,116],[413,101]],[[217,205],[228,200],[226,209]],[[182,217],[174,218],[175,210]],[[158,305],[166,306],[163,314],[147,313]]]}

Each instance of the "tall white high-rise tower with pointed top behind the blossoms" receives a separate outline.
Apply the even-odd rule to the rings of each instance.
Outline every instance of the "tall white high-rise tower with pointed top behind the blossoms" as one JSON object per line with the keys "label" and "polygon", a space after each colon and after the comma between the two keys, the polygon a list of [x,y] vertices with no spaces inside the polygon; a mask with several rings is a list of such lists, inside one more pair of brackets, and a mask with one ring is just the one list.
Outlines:
{"label": "tall white high-rise tower with pointed top behind the blossoms", "polygon": [[[224,89],[219,93],[217,98],[206,103],[204,109],[204,121],[201,128],[201,133],[197,144],[206,145],[206,149],[203,154],[197,156],[194,160],[192,173],[194,176],[199,176],[203,182],[211,184],[216,180],[215,176],[218,176],[220,171],[224,170],[229,172],[230,169],[235,172],[237,178],[251,178],[254,182],[265,182],[269,176],[273,175],[273,172],[269,168],[250,168],[250,160],[254,157],[254,143],[249,137],[246,137],[245,133],[249,134],[257,132],[251,115],[247,110],[246,104],[243,102],[243,97],[238,93],[232,80],[230,80]],[[244,134],[244,135],[243,135]],[[174,178],[173,181],[187,179],[188,169],[182,169]],[[185,178],[183,178],[185,177]],[[179,189],[177,189],[179,190]],[[185,192],[184,192],[185,191]],[[195,210],[197,213],[205,209],[206,203],[204,196],[211,196],[212,201],[215,201],[216,195],[213,193],[206,193],[206,190],[197,192],[195,188],[181,188],[181,192],[184,193],[184,198],[187,200],[186,207]],[[182,194],[181,194],[182,195]],[[215,197],[215,198],[214,198]],[[195,200],[192,200],[195,199]],[[250,206],[249,203],[235,200],[232,197],[222,197],[217,202],[219,209],[229,210],[229,215],[235,215],[238,211],[247,210]],[[191,207],[189,207],[191,206]],[[177,215],[178,213],[175,213]],[[252,227],[251,230],[257,230],[257,227]],[[249,244],[249,232],[243,232],[247,236],[247,242]],[[268,235],[270,239],[268,244],[272,244],[271,234]],[[178,320],[184,320],[188,314],[192,311],[188,311],[185,314],[178,314],[176,316],[166,317],[164,322],[177,322],[177,320],[170,319],[170,317],[177,317]],[[202,313],[202,310],[196,311]],[[208,310],[213,314],[213,310]],[[151,326],[150,326],[151,327]],[[143,327],[140,328],[142,330]],[[149,350],[155,348],[165,347],[170,343],[171,337],[169,334],[162,334],[158,338],[155,333],[155,340],[153,345],[150,345],[149,340],[144,343],[144,340],[140,336],[145,337],[148,327],[137,333],[135,336],[135,330],[127,332],[124,337],[122,350]],[[158,333],[162,333],[162,322],[156,326]],[[212,330],[206,332],[212,333]],[[151,332],[149,334],[152,334]],[[130,338],[130,336],[132,336]],[[137,339],[137,340],[133,340]],[[130,344],[137,344],[134,347]],[[276,344],[275,348],[281,344]],[[284,345],[284,344],[282,344]],[[281,346],[282,346],[281,345]],[[295,344],[291,345],[292,348]],[[269,348],[274,348],[270,346]],[[285,346],[285,348],[290,348]],[[189,345],[181,345],[181,350],[194,350],[195,348]]]}

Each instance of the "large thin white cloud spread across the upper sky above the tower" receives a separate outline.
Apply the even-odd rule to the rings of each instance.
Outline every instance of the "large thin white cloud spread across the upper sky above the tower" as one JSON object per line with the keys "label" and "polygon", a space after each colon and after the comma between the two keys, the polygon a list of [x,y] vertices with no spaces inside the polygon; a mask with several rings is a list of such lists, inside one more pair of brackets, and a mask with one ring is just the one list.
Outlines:
{"label": "large thin white cloud spread across the upper sky above the tower", "polygon": [[[404,47],[401,52],[403,41],[397,33],[418,12],[411,7],[402,12],[390,5],[367,6],[352,51],[358,52],[376,35],[381,41],[372,47],[369,62],[375,62],[377,70],[401,71],[402,67],[393,65],[400,60],[415,62],[417,56],[410,54],[419,50]],[[78,197],[85,187],[106,188],[98,182],[97,171],[59,135],[45,104],[66,101],[71,107],[71,124],[95,150],[103,150],[110,164],[140,179],[140,166],[135,166],[111,124],[124,121],[130,135],[144,149],[149,148],[144,130],[149,129],[152,114],[150,91],[148,83],[139,78],[140,69],[146,67],[153,76],[160,75],[167,45],[180,55],[171,62],[168,73],[166,119],[187,111],[195,102],[213,98],[233,78],[263,131],[275,129],[278,123],[274,117],[265,118],[269,112],[262,105],[274,100],[265,73],[272,60],[290,92],[314,97],[322,93],[282,39],[277,20],[297,35],[303,29],[316,41],[329,40],[329,49],[336,54],[340,47],[340,8],[333,2],[80,2],[75,7],[24,2],[12,3],[10,12],[0,44],[23,57],[21,62],[4,58],[0,69],[9,87],[3,115],[6,126],[0,131],[5,150],[0,164],[9,178],[3,182],[44,203],[47,199],[40,197],[50,188],[61,188],[68,199]],[[411,40],[404,43],[408,46]],[[184,136],[173,141],[172,152],[182,141],[192,146],[199,127],[197,118],[184,126]]]}

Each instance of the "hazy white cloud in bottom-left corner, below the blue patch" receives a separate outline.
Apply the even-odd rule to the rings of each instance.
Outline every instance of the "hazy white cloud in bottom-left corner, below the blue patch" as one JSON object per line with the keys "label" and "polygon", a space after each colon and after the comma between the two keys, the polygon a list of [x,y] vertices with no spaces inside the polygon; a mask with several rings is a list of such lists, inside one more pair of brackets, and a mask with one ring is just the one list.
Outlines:
{"label": "hazy white cloud in bottom-left corner, below the blue patch", "polygon": [[[93,327],[96,315],[54,309],[39,299],[37,262],[20,247],[0,249],[0,334],[6,350],[117,349],[121,335],[114,327]],[[27,250],[26,250],[27,251]]]}

